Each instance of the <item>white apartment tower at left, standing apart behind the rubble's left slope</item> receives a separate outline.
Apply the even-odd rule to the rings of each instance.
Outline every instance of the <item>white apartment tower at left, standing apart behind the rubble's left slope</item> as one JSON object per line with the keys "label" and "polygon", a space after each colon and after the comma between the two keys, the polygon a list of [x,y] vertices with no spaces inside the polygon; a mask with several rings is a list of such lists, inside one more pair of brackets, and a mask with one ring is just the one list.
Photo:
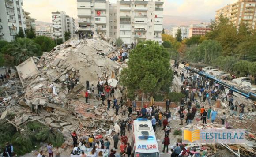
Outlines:
{"label": "white apartment tower at left, standing apart behind the rubble's left slope", "polygon": [[65,41],[65,32],[69,31],[71,37],[75,36],[75,19],[66,15],[64,11],[52,12],[53,38]]}

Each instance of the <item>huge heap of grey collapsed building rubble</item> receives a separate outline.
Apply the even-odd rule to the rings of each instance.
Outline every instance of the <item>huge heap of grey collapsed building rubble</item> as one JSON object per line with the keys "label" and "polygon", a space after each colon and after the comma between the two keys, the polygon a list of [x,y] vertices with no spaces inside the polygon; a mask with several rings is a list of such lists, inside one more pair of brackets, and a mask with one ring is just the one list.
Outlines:
{"label": "huge heap of grey collapsed building rubble", "polygon": [[[94,39],[66,41],[51,52],[44,52],[40,59],[31,57],[16,66],[20,80],[9,80],[3,85],[16,92],[9,98],[7,93],[3,102],[6,106],[19,104],[23,112],[12,110],[11,106],[1,107],[1,119],[15,112],[15,118],[8,122],[17,130],[28,121],[59,129],[66,137],[66,145],[71,144],[70,133],[74,130],[79,136],[111,135],[114,122],[121,117],[106,111],[106,105],[98,100],[97,84],[108,81],[115,88],[114,97],[120,99],[122,86],[118,80],[123,63],[108,57],[119,53],[120,49],[95,35]],[[68,82],[72,78],[73,89]],[[53,91],[49,90],[51,84]],[[87,90],[90,104],[84,99]]]}

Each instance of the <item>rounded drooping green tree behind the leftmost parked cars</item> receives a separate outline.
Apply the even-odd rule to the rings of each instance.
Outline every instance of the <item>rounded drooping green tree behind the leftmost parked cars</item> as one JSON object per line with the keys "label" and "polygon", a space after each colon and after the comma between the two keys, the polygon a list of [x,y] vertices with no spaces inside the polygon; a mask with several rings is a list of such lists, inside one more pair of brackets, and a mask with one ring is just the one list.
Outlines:
{"label": "rounded drooping green tree behind the leftmost parked cars", "polygon": [[222,46],[218,41],[205,40],[198,46],[198,52],[204,63],[212,63],[215,58],[221,55]]}

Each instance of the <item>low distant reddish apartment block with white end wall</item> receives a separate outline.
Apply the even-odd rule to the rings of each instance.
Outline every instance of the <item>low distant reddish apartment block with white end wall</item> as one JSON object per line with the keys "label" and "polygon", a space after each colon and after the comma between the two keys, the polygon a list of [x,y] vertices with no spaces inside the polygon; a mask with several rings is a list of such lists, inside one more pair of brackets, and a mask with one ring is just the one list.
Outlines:
{"label": "low distant reddish apartment block with white end wall", "polygon": [[206,35],[208,31],[211,31],[210,24],[201,23],[201,24],[192,24],[189,26],[188,38],[195,35]]}

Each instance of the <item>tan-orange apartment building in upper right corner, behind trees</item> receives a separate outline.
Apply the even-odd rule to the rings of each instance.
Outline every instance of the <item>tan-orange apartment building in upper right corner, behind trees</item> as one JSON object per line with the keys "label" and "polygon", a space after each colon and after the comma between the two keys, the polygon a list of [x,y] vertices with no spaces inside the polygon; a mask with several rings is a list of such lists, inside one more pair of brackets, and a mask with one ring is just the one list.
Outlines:
{"label": "tan-orange apartment building in upper right corner, behind trees", "polygon": [[237,28],[242,21],[247,23],[248,28],[256,29],[256,0],[239,0],[237,3],[218,9],[215,15],[217,22],[220,15],[228,18]]}

